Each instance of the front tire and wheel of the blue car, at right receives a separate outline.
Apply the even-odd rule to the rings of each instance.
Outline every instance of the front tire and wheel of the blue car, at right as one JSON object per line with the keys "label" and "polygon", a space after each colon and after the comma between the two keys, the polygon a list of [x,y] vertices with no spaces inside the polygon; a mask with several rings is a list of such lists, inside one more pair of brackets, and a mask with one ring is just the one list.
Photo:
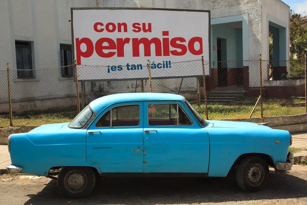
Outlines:
{"label": "front tire and wheel of the blue car, at right", "polygon": [[261,157],[250,156],[240,161],[236,171],[236,181],[240,188],[248,192],[264,189],[269,178],[269,166]]}

